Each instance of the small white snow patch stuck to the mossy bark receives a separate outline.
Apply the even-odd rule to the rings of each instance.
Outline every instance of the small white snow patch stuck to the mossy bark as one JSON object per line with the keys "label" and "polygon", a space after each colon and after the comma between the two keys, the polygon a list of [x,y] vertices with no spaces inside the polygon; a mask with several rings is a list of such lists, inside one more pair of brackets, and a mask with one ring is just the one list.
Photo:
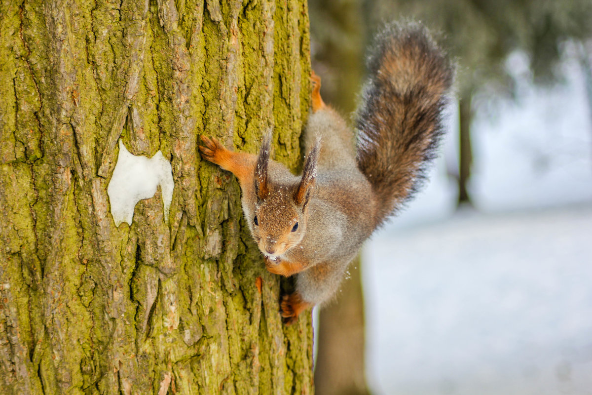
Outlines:
{"label": "small white snow patch stuck to the mossy bark", "polygon": [[160,151],[152,158],[132,155],[119,140],[117,164],[107,187],[115,226],[119,226],[124,221],[131,226],[136,204],[141,199],[153,197],[159,185],[165,223],[168,223],[169,207],[173,198],[173,188],[175,188],[170,162]]}

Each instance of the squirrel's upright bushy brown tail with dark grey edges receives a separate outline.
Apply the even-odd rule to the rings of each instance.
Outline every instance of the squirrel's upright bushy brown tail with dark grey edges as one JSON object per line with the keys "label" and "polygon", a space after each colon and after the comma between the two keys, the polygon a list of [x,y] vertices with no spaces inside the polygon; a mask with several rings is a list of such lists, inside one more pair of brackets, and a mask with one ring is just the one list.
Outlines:
{"label": "squirrel's upright bushy brown tail with dark grey edges", "polygon": [[426,28],[406,23],[378,34],[368,72],[355,120],[357,160],[378,201],[378,226],[412,197],[436,156],[454,70]]}

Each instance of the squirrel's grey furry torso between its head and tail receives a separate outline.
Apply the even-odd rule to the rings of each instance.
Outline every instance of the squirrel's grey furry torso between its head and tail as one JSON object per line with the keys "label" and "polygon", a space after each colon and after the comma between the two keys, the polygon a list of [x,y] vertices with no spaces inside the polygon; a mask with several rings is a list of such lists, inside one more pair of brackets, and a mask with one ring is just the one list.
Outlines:
{"label": "squirrel's grey furry torso between its head and tail", "polygon": [[336,111],[311,114],[304,133],[305,146],[317,137],[323,145],[300,243],[310,267],[297,275],[296,290],[303,300],[322,304],[335,294],[349,262],[374,230],[368,218],[375,202],[368,198],[371,185],[356,165],[353,133]]}

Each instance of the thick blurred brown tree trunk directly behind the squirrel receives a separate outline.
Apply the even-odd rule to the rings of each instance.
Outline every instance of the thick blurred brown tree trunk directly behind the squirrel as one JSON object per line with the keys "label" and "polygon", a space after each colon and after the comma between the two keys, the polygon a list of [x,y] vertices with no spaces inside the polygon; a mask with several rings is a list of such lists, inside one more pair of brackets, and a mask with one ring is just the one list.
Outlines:
{"label": "thick blurred brown tree trunk directly behind the squirrel", "polygon": [[[363,74],[360,0],[310,0],[313,69],[321,95],[345,115],[356,108]],[[314,383],[318,395],[367,394],[364,367],[364,311],[359,258],[349,268],[336,301],[319,313]]]}

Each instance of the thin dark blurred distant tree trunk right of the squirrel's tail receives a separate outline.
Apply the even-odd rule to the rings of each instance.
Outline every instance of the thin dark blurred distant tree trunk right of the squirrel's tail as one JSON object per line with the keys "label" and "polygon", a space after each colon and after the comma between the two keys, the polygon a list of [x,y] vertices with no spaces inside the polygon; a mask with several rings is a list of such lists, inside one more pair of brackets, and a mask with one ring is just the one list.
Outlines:
{"label": "thin dark blurred distant tree trunk right of the squirrel's tail", "polygon": [[467,188],[473,162],[471,94],[467,94],[459,100],[459,113],[458,205],[461,205],[471,204],[471,197]]}

